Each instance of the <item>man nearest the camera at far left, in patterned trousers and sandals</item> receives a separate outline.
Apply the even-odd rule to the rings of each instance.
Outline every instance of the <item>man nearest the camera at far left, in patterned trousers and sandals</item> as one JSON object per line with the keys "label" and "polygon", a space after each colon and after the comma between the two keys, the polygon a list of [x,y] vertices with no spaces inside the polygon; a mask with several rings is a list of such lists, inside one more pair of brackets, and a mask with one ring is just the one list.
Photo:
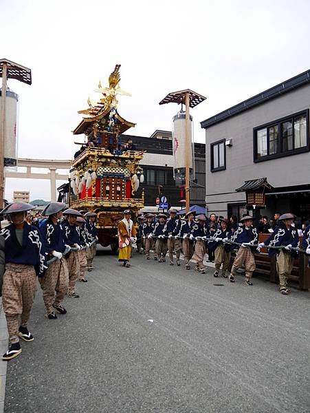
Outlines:
{"label": "man nearest the camera at far left, in patterned trousers and sandals", "polygon": [[27,321],[36,295],[36,275],[42,277],[47,269],[41,234],[36,226],[25,221],[27,211],[34,208],[25,202],[14,202],[1,211],[1,214],[9,215],[12,222],[0,231],[5,240],[2,304],[10,339],[10,348],[3,354],[3,360],[13,359],[21,353],[19,337],[24,341],[34,339],[27,329]]}

